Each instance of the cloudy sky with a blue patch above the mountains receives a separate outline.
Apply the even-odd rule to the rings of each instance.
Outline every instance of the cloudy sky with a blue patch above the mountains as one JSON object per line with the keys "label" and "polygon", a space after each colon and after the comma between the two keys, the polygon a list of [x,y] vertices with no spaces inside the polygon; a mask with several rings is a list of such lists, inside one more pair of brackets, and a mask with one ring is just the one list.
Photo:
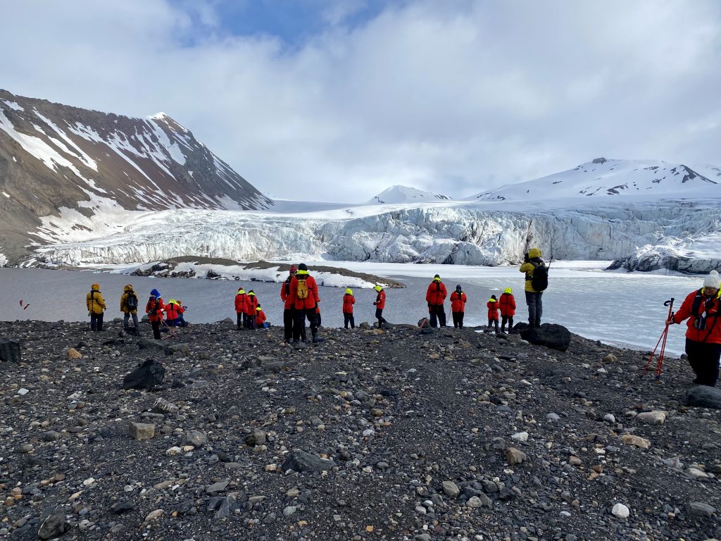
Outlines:
{"label": "cloudy sky with a blue patch above the mountains", "polygon": [[0,0],[0,87],[189,128],[260,190],[721,164],[718,0]]}

